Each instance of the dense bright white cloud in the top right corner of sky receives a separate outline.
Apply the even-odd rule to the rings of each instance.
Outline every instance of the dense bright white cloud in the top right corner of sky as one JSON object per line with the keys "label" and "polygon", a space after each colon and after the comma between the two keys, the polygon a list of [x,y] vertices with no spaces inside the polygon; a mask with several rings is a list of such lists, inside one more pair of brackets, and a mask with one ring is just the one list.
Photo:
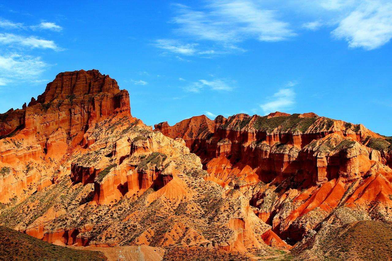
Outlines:
{"label": "dense bright white cloud in the top right corner of sky", "polygon": [[351,48],[372,50],[385,45],[392,38],[392,3],[364,1],[339,22],[332,35],[346,40]]}

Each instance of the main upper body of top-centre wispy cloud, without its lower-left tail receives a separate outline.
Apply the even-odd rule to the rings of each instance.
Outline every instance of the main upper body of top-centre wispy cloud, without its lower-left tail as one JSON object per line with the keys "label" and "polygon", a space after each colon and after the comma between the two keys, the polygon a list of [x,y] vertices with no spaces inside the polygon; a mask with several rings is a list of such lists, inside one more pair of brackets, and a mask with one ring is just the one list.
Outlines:
{"label": "main upper body of top-centre wispy cloud, without its lower-left tail", "polygon": [[278,19],[276,11],[263,9],[254,1],[212,1],[203,11],[177,5],[172,19],[176,32],[199,40],[236,43],[246,39],[282,41],[295,36],[289,23]]}

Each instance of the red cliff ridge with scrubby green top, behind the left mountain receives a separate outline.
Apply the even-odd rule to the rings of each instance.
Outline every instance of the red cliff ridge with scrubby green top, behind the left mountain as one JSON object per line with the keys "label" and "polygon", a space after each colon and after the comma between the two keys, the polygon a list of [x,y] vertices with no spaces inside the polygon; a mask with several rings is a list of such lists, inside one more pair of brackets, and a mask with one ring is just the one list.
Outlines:
{"label": "red cliff ridge with scrubby green top, behind the left mountain", "polygon": [[202,115],[155,130],[183,138],[201,158],[205,180],[239,189],[290,243],[323,222],[392,222],[391,138],[362,124],[275,112],[214,122]]}

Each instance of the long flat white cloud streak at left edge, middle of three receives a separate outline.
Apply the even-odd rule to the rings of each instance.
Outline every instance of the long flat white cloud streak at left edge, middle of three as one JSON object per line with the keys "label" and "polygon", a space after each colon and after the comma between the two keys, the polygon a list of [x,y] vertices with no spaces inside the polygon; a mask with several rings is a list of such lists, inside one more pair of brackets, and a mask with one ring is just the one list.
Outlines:
{"label": "long flat white cloud streak at left edge, middle of three", "polygon": [[5,45],[22,46],[30,48],[42,48],[42,49],[53,49],[61,50],[54,41],[39,39],[35,36],[20,36],[16,34],[0,34],[0,43]]}

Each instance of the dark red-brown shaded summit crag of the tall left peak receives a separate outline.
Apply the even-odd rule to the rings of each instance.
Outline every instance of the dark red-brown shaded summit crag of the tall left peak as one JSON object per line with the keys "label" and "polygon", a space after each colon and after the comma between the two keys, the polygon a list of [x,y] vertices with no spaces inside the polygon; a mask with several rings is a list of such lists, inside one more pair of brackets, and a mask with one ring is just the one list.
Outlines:
{"label": "dark red-brown shaded summit crag of the tall left peak", "polygon": [[0,137],[18,130],[50,135],[60,127],[68,135],[82,135],[89,122],[113,113],[131,116],[130,109],[127,90],[120,90],[108,75],[98,70],[62,72],[28,106],[0,114]]}

